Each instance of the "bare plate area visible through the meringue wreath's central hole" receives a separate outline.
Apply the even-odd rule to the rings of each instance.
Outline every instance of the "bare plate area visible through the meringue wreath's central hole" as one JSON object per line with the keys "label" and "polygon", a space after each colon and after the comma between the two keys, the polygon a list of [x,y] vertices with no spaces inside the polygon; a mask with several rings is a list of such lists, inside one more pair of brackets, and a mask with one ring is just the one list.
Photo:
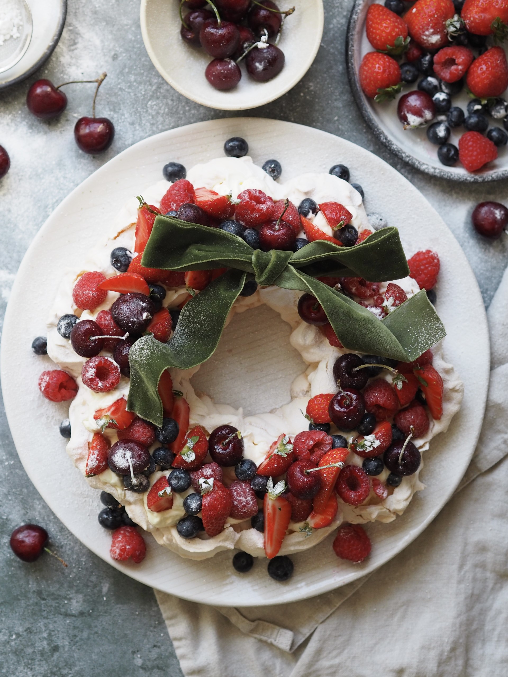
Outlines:
{"label": "bare plate area visible through the meringue wreath's central hole", "polygon": [[246,416],[287,404],[291,383],[307,368],[290,334],[289,324],[268,305],[236,313],[190,383],[215,403],[241,407]]}

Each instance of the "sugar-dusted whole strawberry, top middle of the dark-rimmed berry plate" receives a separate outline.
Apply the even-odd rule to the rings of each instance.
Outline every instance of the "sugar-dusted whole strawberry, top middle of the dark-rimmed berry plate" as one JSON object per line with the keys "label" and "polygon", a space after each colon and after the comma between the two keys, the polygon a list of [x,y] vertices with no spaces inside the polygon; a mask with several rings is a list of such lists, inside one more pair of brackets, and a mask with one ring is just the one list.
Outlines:
{"label": "sugar-dusted whole strawberry, top middle of the dark-rimmed berry plate", "polygon": [[448,42],[446,22],[455,14],[452,0],[418,0],[404,15],[409,35],[425,49],[441,49]]}

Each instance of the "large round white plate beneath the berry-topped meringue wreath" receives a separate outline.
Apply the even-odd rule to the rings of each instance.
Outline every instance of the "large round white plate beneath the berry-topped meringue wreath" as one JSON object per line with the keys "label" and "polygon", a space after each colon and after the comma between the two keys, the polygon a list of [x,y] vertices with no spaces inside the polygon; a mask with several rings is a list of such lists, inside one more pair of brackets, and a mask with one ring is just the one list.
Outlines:
{"label": "large round white plate beneath the berry-topped meringue wreath", "polygon": [[[101,507],[98,492],[72,465],[58,433],[67,407],[47,401],[37,389],[41,371],[54,365],[30,349],[33,337],[45,334],[45,321],[62,269],[82,259],[91,246],[106,236],[108,223],[126,200],[160,180],[162,167],[169,160],[190,168],[221,156],[225,139],[237,135],[249,141],[257,164],[278,158],[283,180],[309,171],[326,172],[337,162],[348,165],[352,178],[361,181],[366,192],[367,211],[377,211],[387,217],[390,225],[398,226],[409,253],[427,247],[438,251],[442,268],[436,288],[437,307],[448,331],[444,354],[465,383],[461,411],[452,420],[448,433],[436,437],[425,452],[420,477],[427,488],[416,494],[396,521],[367,525],[373,542],[371,556],[362,565],[341,561],[331,548],[331,536],[312,550],[292,556],[295,574],[285,584],[270,579],[263,559],[255,562],[251,573],[242,575],[231,565],[232,552],[194,562],[158,546],[150,536],[146,537],[146,559],[140,565],[112,561],[110,533],[97,521]],[[26,307],[27,288],[30,312],[20,313],[19,309]],[[218,373],[221,360],[223,365],[228,359],[240,362],[242,378],[232,381],[229,387],[226,383],[222,389],[222,401],[236,406],[246,401],[246,383],[262,403],[263,380],[259,374],[274,364],[271,359],[270,366],[263,365],[266,341],[274,334],[260,332],[257,326],[256,339],[248,328],[249,313],[235,320],[242,322],[242,318],[247,327],[245,335],[249,336],[245,358],[242,360],[241,351],[238,353],[236,340],[236,352],[217,351],[216,363]],[[282,350],[287,336],[280,334]],[[228,335],[224,340],[230,338]],[[273,340],[270,339],[270,347]],[[257,360],[253,360],[254,351],[259,355]],[[363,148],[318,129],[263,118],[228,118],[180,127],[140,141],[98,169],[57,207],[20,265],[5,313],[0,367],[5,411],[24,468],[50,508],[79,540],[106,562],[146,585],[213,605],[254,606],[291,602],[343,586],[384,564],[436,517],[463,476],[480,433],[488,387],[489,343],[484,305],[463,251],[438,213],[402,175]],[[213,383],[210,364],[203,376]],[[294,373],[287,376],[286,401],[293,376]],[[277,402],[267,396],[266,403],[269,410]]]}

